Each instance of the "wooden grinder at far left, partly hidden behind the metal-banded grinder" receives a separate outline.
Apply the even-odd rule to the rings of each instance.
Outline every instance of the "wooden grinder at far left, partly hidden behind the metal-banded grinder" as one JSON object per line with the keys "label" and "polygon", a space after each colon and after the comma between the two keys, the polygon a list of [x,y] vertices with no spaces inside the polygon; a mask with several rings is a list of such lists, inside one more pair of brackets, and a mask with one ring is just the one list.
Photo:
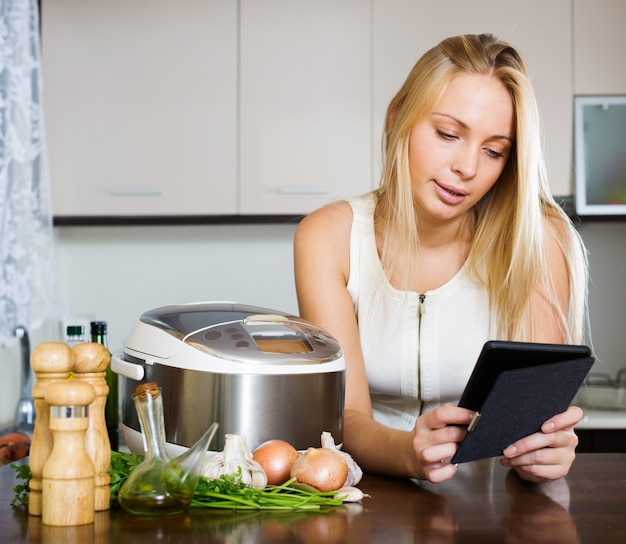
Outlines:
{"label": "wooden grinder at far left, partly hidden behind the metal-banded grinder", "polygon": [[62,342],[43,342],[31,353],[30,366],[37,381],[32,391],[36,415],[29,453],[32,478],[29,483],[28,513],[41,516],[41,477],[43,467],[52,451],[50,409],[44,394],[50,384],[65,380],[70,375],[72,367],[70,348]]}

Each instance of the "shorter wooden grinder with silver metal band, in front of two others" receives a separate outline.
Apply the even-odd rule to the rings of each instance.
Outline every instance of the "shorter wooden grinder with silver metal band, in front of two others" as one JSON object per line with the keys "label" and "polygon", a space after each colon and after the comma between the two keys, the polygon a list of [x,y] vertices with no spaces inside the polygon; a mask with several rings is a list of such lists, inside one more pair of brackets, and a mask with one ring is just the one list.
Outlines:
{"label": "shorter wooden grinder with silver metal band, in front of two others", "polygon": [[50,384],[45,398],[50,405],[53,446],[43,467],[41,521],[56,526],[93,523],[95,469],[85,434],[96,392],[85,381],[63,380]]}

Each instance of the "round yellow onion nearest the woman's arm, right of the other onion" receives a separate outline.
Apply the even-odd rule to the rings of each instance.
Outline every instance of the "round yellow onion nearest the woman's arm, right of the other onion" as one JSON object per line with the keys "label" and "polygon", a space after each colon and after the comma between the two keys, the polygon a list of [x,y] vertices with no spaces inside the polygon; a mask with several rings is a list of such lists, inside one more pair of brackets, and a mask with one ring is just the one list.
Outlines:
{"label": "round yellow onion nearest the woman's arm, right of the other onion", "polygon": [[347,476],[348,464],[329,448],[309,448],[291,467],[292,478],[323,492],[343,487]]}

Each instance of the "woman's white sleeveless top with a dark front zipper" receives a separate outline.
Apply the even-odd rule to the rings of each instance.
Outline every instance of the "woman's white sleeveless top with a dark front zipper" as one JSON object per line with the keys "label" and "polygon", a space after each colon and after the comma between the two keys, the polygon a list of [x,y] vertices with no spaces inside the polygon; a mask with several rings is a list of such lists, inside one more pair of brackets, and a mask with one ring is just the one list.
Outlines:
{"label": "woman's white sleeveless top with a dark front zipper", "polygon": [[374,235],[373,193],[352,207],[348,292],[377,421],[412,430],[421,413],[456,404],[483,344],[492,338],[489,295],[462,268],[448,283],[418,294],[389,283]]}

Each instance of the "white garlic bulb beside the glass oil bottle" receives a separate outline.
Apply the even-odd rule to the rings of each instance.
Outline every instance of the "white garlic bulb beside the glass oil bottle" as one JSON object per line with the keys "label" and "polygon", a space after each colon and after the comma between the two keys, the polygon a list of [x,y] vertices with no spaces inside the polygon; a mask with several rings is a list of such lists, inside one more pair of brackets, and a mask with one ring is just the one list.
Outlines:
{"label": "white garlic bulb beside the glass oil bottle", "polygon": [[240,475],[240,480],[244,484],[255,489],[263,489],[267,485],[267,476],[263,467],[252,458],[246,437],[227,434],[224,439],[224,451],[205,461],[204,476],[215,479],[223,474]]}

